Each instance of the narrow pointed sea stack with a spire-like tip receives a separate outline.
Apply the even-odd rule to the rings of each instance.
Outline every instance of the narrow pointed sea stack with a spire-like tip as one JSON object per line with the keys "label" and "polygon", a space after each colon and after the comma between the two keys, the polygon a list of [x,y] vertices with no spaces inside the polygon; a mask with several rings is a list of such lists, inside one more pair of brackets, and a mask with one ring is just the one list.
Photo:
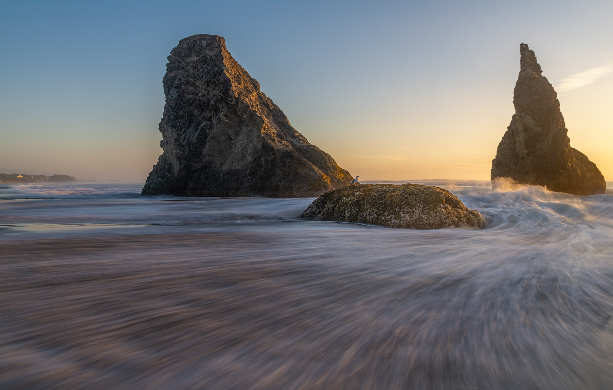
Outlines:
{"label": "narrow pointed sea stack with a spire-like tip", "polygon": [[571,148],[557,93],[525,43],[520,45],[520,65],[515,114],[492,161],[492,182],[511,178],[575,195],[604,193],[606,182],[596,164]]}

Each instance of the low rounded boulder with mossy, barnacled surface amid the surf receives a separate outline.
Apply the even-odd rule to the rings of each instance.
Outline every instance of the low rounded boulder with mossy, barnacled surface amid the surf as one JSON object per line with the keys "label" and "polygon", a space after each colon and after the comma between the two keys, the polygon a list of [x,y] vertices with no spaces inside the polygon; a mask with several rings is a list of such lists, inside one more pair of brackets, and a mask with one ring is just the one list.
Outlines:
{"label": "low rounded boulder with mossy, barnacled surface amid the surf", "polygon": [[451,192],[419,184],[359,184],[324,193],[303,218],[368,223],[390,228],[483,228],[485,218]]}

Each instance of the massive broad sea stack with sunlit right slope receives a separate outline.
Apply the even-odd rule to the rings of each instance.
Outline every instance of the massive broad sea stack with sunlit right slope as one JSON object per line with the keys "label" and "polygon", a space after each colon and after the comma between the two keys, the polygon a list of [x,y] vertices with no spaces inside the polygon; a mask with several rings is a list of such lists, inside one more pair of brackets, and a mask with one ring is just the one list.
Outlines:
{"label": "massive broad sea stack with sunlit right slope", "polygon": [[223,37],[181,39],[163,84],[164,152],[142,195],[316,197],[351,181],[289,124]]}

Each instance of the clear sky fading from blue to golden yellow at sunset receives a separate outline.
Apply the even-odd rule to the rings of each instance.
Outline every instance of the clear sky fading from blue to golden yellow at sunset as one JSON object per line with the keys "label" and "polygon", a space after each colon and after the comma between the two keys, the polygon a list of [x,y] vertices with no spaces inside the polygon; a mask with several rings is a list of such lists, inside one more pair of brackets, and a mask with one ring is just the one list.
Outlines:
{"label": "clear sky fading from blue to golden yellow at sunset", "polygon": [[217,34],[362,181],[489,179],[528,43],[571,146],[611,180],[611,15],[611,1],[0,0],[0,171],[144,182],[166,57]]}

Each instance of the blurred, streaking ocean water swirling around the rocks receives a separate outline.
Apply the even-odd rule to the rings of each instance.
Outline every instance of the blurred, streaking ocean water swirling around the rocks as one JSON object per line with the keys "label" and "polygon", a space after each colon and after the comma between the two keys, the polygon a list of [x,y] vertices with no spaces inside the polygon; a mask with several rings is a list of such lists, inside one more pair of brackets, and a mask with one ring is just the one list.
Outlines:
{"label": "blurred, streaking ocean water swirling around the rocks", "polygon": [[0,388],[613,389],[613,193],[418,183],[487,228],[0,183]]}

